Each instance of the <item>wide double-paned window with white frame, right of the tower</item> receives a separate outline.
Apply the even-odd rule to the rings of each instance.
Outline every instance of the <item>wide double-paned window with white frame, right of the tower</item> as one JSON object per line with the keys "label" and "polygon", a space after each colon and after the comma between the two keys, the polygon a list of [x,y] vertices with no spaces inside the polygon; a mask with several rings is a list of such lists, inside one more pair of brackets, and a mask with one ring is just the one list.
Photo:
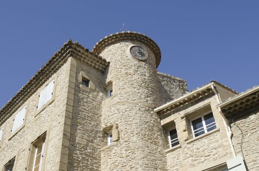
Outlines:
{"label": "wide double-paned window with white frame, right of the tower", "polygon": [[212,112],[191,121],[192,136],[197,137],[216,128]]}

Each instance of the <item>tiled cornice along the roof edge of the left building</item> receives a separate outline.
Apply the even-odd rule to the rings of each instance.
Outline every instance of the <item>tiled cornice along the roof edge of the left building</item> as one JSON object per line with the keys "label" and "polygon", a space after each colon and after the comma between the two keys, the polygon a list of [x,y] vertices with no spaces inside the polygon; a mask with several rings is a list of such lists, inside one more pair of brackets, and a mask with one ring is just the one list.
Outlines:
{"label": "tiled cornice along the roof edge of the left building", "polygon": [[75,57],[79,61],[104,72],[109,65],[105,59],[96,56],[78,42],[68,40],[48,62],[0,109],[0,125],[3,124],[28,98],[37,91],[66,61]]}

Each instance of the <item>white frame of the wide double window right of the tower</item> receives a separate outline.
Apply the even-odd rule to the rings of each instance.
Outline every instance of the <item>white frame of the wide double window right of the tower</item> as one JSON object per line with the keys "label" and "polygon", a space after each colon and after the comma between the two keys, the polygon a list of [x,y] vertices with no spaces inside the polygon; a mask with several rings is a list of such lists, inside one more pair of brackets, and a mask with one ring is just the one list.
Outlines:
{"label": "white frame of the wide double window right of the tower", "polygon": [[[207,132],[210,132],[210,131],[216,129],[216,128],[214,128],[214,129],[212,129],[212,130],[210,130],[210,131],[207,131],[207,129],[208,129],[209,127],[208,127],[208,128],[206,127],[206,123],[205,123],[205,120],[204,120],[204,116],[207,115],[207,114],[209,114],[209,113],[212,113],[212,116],[213,116],[213,119],[214,119],[214,122],[210,123],[209,125],[212,125],[212,124],[214,123],[215,125],[213,125],[213,126],[215,126],[215,127],[217,128],[217,125],[216,125],[216,121],[215,121],[215,117],[214,117],[213,112],[212,112],[212,111],[208,111],[208,112],[206,112],[206,113],[204,113],[204,114],[202,114],[202,115],[200,115],[200,116],[198,116],[198,117],[196,117],[196,118],[190,120],[190,126],[191,126],[191,132],[192,132],[191,136],[192,136],[193,138],[199,137],[199,136],[201,136],[201,135],[203,135],[203,134],[205,134],[205,133],[207,133]],[[204,133],[201,134],[201,135],[195,136],[195,134],[199,133],[200,131],[194,133],[194,131],[195,131],[195,130],[198,130],[198,129],[195,129],[195,130],[193,129],[192,121],[194,121],[194,120],[196,120],[196,119],[198,119],[198,118],[201,118],[201,119],[202,119],[202,124],[203,124],[203,127],[202,127],[203,129],[201,129],[201,128],[198,128],[198,129],[201,129],[200,131],[204,130]],[[212,126],[210,126],[210,127],[212,127]]]}

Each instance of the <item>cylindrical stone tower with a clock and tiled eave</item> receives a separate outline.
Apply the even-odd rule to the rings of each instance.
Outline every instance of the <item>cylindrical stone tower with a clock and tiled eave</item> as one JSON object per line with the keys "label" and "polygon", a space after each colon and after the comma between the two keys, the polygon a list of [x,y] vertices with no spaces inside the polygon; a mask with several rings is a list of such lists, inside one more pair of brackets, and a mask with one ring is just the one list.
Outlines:
{"label": "cylindrical stone tower with a clock and tiled eave", "polygon": [[153,111],[160,105],[159,47],[140,33],[121,32],[105,37],[93,52],[110,62],[104,87],[112,87],[113,95],[103,102],[102,127],[119,131],[102,149],[102,171],[166,171],[162,129]]}

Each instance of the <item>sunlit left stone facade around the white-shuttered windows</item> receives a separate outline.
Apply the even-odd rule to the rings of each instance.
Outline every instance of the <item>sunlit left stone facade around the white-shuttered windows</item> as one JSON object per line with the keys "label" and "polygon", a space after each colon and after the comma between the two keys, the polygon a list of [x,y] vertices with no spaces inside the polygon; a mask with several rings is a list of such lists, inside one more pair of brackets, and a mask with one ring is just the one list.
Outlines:
{"label": "sunlit left stone facade around the white-shuttered windows", "polygon": [[[31,143],[37,139],[42,133],[47,131],[46,148],[44,155],[45,171],[54,171],[59,168],[60,161],[60,148],[63,134],[63,120],[64,116],[62,111],[64,97],[66,96],[67,83],[68,83],[68,70],[69,62],[65,63],[54,75],[51,76],[49,81],[56,79],[55,98],[40,113],[37,113],[37,102],[39,93],[42,88],[37,90],[26,101],[27,114],[25,126],[21,128],[12,138],[10,130],[12,129],[13,114],[4,123],[4,133],[0,145],[0,170],[3,166],[13,157],[16,157],[15,171],[25,171],[28,164],[29,149]],[[45,85],[43,85],[45,86]],[[61,130],[60,130],[61,129]],[[31,168],[27,168],[29,170]]]}

